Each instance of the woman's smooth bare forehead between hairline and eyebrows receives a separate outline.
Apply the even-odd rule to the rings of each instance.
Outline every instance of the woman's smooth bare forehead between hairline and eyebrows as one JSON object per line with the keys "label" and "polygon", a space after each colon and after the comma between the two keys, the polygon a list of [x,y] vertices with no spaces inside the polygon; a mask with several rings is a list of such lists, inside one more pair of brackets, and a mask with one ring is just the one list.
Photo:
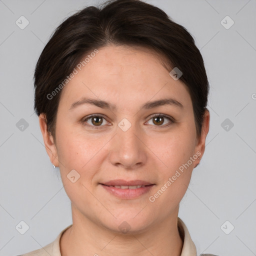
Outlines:
{"label": "woman's smooth bare forehead between hairline and eyebrows", "polygon": [[[89,55],[89,56],[88,56]],[[150,99],[171,96],[189,104],[186,85],[174,80],[162,65],[161,56],[144,48],[106,46],[96,54],[87,54],[87,62],[63,87],[60,103],[82,96],[114,101],[123,108]],[[81,62],[82,63],[82,62]],[[126,106],[125,106],[126,104]],[[70,105],[69,105],[70,106]]]}

